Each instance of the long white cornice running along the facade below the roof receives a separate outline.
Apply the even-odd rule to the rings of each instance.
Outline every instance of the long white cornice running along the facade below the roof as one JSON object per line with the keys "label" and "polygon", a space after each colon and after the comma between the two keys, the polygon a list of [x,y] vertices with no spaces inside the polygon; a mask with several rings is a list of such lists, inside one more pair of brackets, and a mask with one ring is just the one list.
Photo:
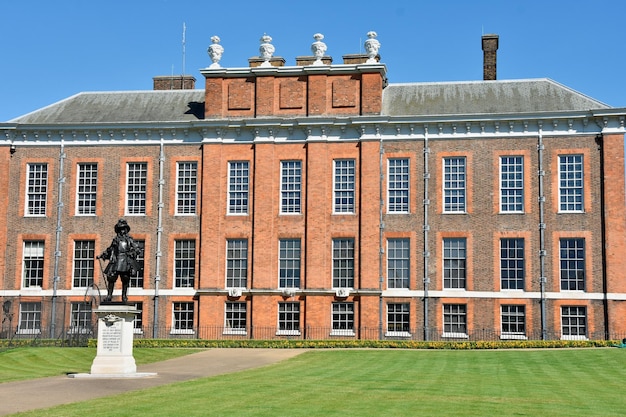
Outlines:
{"label": "long white cornice running along the facade below the roof", "polygon": [[[0,124],[0,143],[16,145],[65,144],[149,145],[165,143],[246,141],[346,141],[488,139],[536,136],[625,134],[626,112],[572,112],[541,115],[464,116],[338,116],[297,118],[220,119],[106,125]],[[156,133],[155,133],[156,132]]]}

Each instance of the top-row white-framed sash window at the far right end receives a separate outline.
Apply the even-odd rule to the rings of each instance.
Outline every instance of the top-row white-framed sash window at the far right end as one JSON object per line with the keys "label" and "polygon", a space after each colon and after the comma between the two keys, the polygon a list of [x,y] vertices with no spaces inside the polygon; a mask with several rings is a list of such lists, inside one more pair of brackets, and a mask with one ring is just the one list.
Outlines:
{"label": "top-row white-framed sash window at the far right end", "polygon": [[559,155],[559,213],[584,213],[584,203],[584,155]]}

